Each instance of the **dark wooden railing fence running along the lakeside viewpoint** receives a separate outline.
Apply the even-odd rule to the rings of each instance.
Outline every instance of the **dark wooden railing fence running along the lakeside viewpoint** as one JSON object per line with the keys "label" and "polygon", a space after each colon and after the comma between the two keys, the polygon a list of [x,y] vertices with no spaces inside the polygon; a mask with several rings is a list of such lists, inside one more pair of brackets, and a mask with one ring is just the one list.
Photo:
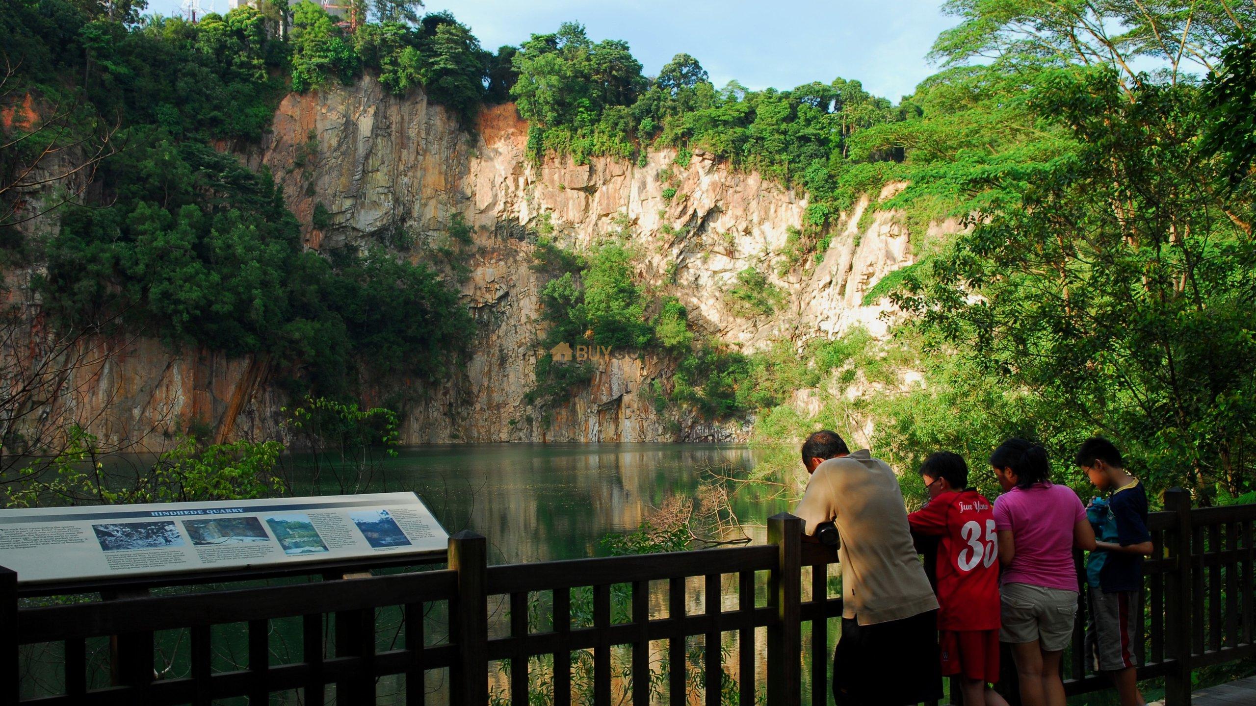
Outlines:
{"label": "dark wooden railing fence running along the lakeside viewpoint", "polygon": [[[1156,553],[1145,563],[1135,621],[1145,629],[1135,651],[1140,676],[1163,677],[1169,706],[1183,706],[1189,703],[1192,668],[1256,657],[1256,505],[1192,510],[1179,490],[1167,492],[1164,505],[1150,518]],[[502,673],[492,665],[507,665],[509,688],[494,697],[519,706],[529,703],[536,657],[546,660],[545,688],[556,706],[571,703],[573,693],[609,706],[613,683],[627,690],[622,695],[631,692],[634,706],[652,700],[715,706],[731,693],[728,678],[741,705],[762,697],[774,706],[804,700],[824,705],[830,702],[830,629],[842,614],[840,589],[829,580],[836,558],[800,541],[801,529],[800,519],[781,514],[769,520],[764,546],[501,567],[486,565],[485,538],[458,533],[450,539],[448,568],[442,570],[45,607],[20,607],[18,577],[0,569],[0,705],[208,705],[230,697],[268,703],[271,693],[295,690],[305,705],[319,706],[330,693],[340,705],[357,706],[373,703],[378,680],[389,676],[408,687],[403,702],[418,705],[431,697],[425,673],[432,670],[447,670],[451,703],[480,705],[490,702],[490,675]],[[762,574],[767,580],[756,582]],[[702,611],[695,614],[687,613],[691,578],[705,587]],[[666,616],[652,616],[651,582],[667,583]],[[736,608],[726,608],[723,585],[736,585]],[[573,624],[573,589],[592,592],[592,619],[579,624]],[[625,621],[612,619],[613,589],[615,600],[631,603]],[[530,619],[536,594],[550,598],[548,629]],[[1083,594],[1066,666],[1070,693],[1108,687],[1084,663],[1084,602]],[[440,641],[425,638],[425,614],[433,604],[447,616]],[[509,607],[507,634],[490,634],[491,604]],[[377,616],[384,608],[399,612],[401,626],[396,643],[381,649]],[[281,619],[300,622],[299,661],[273,663],[270,628]],[[229,623],[247,626],[246,665],[214,671],[212,628]],[[766,629],[765,647],[756,643],[756,628]],[[187,676],[154,678],[154,634],[162,631],[190,636]],[[737,648],[726,658],[723,637],[730,633]],[[706,646],[698,688],[686,673],[691,637]],[[87,644],[99,638],[114,646],[113,686],[89,688]],[[24,646],[48,643],[60,646],[64,688],[59,695],[24,693]],[[629,651],[627,667],[613,671],[613,648]],[[592,685],[573,688],[573,654],[590,652]],[[667,668],[653,673],[657,652]],[[808,693],[804,663],[810,665]],[[766,685],[756,683],[760,673]],[[659,675],[664,683],[652,688]]]}

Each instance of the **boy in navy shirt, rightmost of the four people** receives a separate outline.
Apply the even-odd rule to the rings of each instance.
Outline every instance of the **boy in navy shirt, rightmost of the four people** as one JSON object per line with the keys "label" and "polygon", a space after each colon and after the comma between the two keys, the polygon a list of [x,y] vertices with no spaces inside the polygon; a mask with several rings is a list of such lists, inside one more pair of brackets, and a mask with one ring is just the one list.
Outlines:
{"label": "boy in navy shirt, rightmost of the four people", "polygon": [[1147,492],[1107,438],[1088,438],[1075,461],[1095,489],[1108,491],[1107,500],[1095,497],[1086,508],[1096,538],[1095,550],[1086,558],[1090,587],[1086,653],[1100,672],[1112,677],[1120,706],[1143,706],[1130,612],[1143,585],[1143,557],[1153,550],[1147,529]]}

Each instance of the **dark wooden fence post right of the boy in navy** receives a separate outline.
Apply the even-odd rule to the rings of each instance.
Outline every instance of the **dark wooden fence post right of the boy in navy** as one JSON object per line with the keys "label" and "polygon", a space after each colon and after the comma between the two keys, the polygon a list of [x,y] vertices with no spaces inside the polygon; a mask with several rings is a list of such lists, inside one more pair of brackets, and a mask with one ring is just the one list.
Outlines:
{"label": "dark wooden fence post right of the boy in navy", "polygon": [[1173,513],[1173,558],[1177,567],[1166,587],[1166,647],[1173,668],[1164,676],[1164,706],[1191,706],[1191,494],[1164,491],[1164,509]]}

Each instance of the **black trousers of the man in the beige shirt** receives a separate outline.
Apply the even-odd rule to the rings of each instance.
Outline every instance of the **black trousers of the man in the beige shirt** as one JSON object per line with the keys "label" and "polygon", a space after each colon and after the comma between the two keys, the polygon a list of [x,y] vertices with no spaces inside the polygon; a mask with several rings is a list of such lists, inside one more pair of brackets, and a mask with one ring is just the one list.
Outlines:
{"label": "black trousers of the man in the beige shirt", "polygon": [[842,618],[833,653],[838,706],[913,706],[942,698],[938,612],[860,626]]}

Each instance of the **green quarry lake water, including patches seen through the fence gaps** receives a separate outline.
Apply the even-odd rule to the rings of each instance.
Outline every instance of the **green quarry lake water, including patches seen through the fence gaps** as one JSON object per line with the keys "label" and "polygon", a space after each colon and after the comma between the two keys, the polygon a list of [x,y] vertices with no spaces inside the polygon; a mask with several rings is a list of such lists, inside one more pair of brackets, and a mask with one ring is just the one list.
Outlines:
{"label": "green quarry lake water, including patches seen through the fence gaps", "polygon": [[[600,541],[607,535],[637,529],[642,521],[677,499],[695,499],[705,481],[710,480],[711,471],[727,477],[746,477],[755,462],[754,450],[726,445],[448,445],[401,448],[396,456],[376,459],[360,472],[362,466],[328,459],[325,455],[298,455],[285,459],[284,474],[294,495],[414,491],[447,531],[452,534],[470,529],[485,535],[489,539],[489,560],[506,564],[604,555],[607,551]],[[736,492],[730,495],[727,509],[746,535],[762,543],[766,519],[789,510],[789,504],[776,497],[779,487],[734,485]],[[225,587],[201,589],[216,588]],[[658,590],[652,590],[651,617],[664,617],[666,584],[659,583],[654,588]],[[702,612],[701,579],[687,582],[686,588],[687,611]],[[163,589],[162,593],[182,590],[186,589]],[[766,590],[766,587],[760,585],[759,590]],[[736,584],[730,582],[722,593],[725,608],[735,609]],[[548,603],[548,598],[543,602]],[[501,604],[495,604],[490,611],[490,632],[494,636],[505,634],[509,629],[509,609],[504,599],[497,603]],[[545,609],[541,606],[541,611]],[[377,648],[389,649],[396,638],[399,613],[396,609],[383,609],[377,619]],[[425,621],[428,623],[428,643],[443,641],[446,621],[443,607],[437,607],[428,616]],[[764,637],[757,636],[756,642],[761,642]],[[833,639],[835,632],[830,632],[830,642]],[[300,642],[299,621],[271,622],[274,663],[299,661],[300,649],[296,646]],[[691,648],[701,654],[701,638],[691,638],[690,642],[693,643]],[[728,633],[725,642],[723,647],[731,649],[736,644],[734,633]],[[163,678],[188,676],[187,644],[185,631],[157,636],[154,668]],[[829,648],[831,649],[831,644]],[[215,671],[242,668],[247,653],[242,626],[217,626],[214,631],[214,653]],[[627,648],[617,648],[617,666],[627,654]],[[654,657],[658,661],[662,653]],[[59,693],[64,685],[59,670],[62,660],[59,644],[31,646],[23,660],[23,692],[26,696]],[[106,639],[89,642],[88,662],[88,683],[92,687],[107,686],[109,667]],[[762,665],[757,671],[762,683]],[[446,680],[443,671],[428,672],[427,691],[431,702],[446,701]],[[504,675],[494,671],[490,680],[495,693],[502,693],[506,688]],[[804,681],[809,682],[809,675],[804,676]],[[379,703],[402,701],[403,687],[399,680],[384,678],[378,686]],[[617,680],[617,688],[622,686]],[[333,687],[329,687],[328,695],[334,698]],[[271,703],[284,705],[301,701],[296,692],[275,693],[271,698]],[[244,698],[216,701],[224,705],[245,702]]]}

